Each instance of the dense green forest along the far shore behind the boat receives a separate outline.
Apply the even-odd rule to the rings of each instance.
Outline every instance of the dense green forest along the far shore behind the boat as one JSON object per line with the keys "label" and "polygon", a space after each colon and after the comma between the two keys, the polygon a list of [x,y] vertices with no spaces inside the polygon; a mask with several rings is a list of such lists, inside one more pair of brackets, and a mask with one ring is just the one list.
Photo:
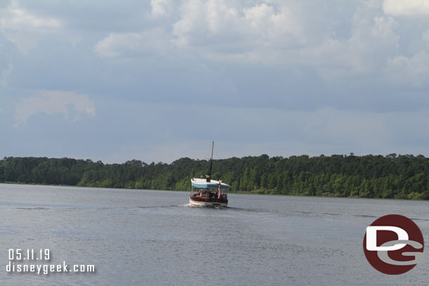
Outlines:
{"label": "dense green forest along the far shore behind the boat", "polygon": [[[181,158],[146,164],[91,160],[5,157],[0,182],[103,188],[190,190],[190,178],[207,173],[207,160]],[[213,161],[212,178],[233,192],[330,197],[429,200],[429,158],[423,155],[332,155],[232,157]]]}

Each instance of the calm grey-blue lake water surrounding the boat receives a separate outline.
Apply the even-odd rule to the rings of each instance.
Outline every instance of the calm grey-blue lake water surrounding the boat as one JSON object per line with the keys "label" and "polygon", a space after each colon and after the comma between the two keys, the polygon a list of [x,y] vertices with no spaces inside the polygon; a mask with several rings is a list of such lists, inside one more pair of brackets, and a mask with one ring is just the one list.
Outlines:
{"label": "calm grey-blue lake water surrounding the boat", "polygon": [[[428,285],[428,259],[383,275],[362,241],[385,214],[414,219],[429,238],[429,202],[229,200],[200,209],[182,192],[0,184],[0,285]],[[10,248],[48,248],[50,264],[96,273],[6,273]]]}

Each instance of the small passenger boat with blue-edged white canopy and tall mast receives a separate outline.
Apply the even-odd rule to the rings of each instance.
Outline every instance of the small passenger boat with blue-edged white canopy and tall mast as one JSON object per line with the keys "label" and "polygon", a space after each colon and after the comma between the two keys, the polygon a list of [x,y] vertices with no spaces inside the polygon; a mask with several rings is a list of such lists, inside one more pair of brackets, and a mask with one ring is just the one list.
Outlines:
{"label": "small passenger boat with blue-edged white canopy and tall mast", "polygon": [[189,205],[192,207],[227,207],[228,195],[224,191],[230,186],[222,181],[212,180],[212,157],[210,158],[209,173],[205,178],[191,178],[191,195],[189,195]]}

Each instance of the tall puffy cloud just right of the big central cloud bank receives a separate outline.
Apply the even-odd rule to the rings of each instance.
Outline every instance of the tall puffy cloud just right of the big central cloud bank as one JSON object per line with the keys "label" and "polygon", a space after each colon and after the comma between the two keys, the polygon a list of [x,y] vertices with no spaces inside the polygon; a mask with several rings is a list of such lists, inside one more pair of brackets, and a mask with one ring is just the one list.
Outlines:
{"label": "tall puffy cloud just right of the big central cloud bank", "polygon": [[388,59],[399,53],[399,24],[380,15],[378,2],[369,1],[357,8],[348,39],[326,37],[320,46],[303,48],[302,59],[314,63],[325,78],[379,73]]}

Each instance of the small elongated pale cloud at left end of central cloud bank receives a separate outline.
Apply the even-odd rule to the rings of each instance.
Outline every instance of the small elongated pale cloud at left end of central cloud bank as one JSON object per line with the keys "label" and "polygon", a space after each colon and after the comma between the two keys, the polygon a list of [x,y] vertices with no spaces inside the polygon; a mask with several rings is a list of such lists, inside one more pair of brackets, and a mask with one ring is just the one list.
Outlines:
{"label": "small elongated pale cloud at left end of central cloud bank", "polygon": [[97,42],[94,52],[104,58],[134,58],[145,53],[165,53],[168,46],[167,35],[162,29],[156,28],[141,33],[110,33]]}

